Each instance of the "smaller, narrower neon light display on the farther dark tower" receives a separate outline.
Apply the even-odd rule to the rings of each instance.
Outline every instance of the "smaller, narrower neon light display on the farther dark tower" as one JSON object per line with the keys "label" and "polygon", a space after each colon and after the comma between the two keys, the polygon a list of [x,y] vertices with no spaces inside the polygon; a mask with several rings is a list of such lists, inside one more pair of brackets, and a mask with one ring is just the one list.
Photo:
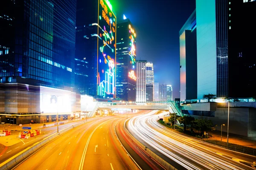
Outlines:
{"label": "smaller, narrower neon light display on the farther dark tower", "polygon": [[129,24],[129,56],[130,56],[130,64],[128,66],[129,73],[128,77],[131,79],[136,80],[136,75],[135,75],[135,65],[136,65],[136,33],[134,28]]}

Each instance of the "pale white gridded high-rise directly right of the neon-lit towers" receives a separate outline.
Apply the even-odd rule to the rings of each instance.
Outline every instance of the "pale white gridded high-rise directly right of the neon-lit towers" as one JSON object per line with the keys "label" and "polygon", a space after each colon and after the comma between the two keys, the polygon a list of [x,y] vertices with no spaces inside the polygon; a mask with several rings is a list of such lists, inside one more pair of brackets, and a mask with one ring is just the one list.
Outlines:
{"label": "pale white gridded high-rise directly right of the neon-lit towers", "polygon": [[136,102],[146,102],[146,60],[136,60]]}

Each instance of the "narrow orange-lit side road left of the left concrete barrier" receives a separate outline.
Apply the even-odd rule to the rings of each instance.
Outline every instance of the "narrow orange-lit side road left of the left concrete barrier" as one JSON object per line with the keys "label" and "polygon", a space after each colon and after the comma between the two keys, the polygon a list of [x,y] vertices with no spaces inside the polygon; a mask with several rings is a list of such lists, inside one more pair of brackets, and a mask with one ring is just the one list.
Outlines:
{"label": "narrow orange-lit side road left of the left concrete barrier", "polygon": [[[92,121],[94,122],[97,119],[101,119],[101,118],[96,117],[96,118],[87,119],[87,121],[86,120],[81,120],[81,121],[84,121],[87,123],[87,122],[92,122]],[[59,130],[62,130],[66,127],[72,126],[81,121],[74,121],[74,122],[70,122],[70,123],[67,123],[64,125],[59,125]],[[51,135],[52,133],[56,133],[57,126],[44,127],[44,128],[41,128],[41,131],[42,131],[42,133],[40,135],[34,136],[29,139],[20,139],[20,142],[18,142],[17,144],[11,145],[11,146],[4,146],[3,144],[0,144],[0,163],[6,161],[7,159],[11,158],[12,156],[15,156],[17,153],[21,152],[26,147],[32,146],[36,142],[41,141],[42,139]],[[17,133],[17,136],[18,136],[18,133]],[[15,136],[15,137],[17,137],[17,136]],[[4,138],[4,137],[1,137],[1,138]]]}

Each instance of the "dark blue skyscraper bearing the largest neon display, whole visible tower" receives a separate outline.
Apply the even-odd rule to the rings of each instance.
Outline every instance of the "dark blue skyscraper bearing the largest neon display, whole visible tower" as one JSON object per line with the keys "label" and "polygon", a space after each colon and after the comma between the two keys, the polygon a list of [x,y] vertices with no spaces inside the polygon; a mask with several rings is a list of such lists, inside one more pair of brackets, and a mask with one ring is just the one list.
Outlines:
{"label": "dark blue skyscraper bearing the largest neon display, whole visible tower", "polygon": [[76,69],[78,91],[103,99],[116,97],[116,16],[108,0],[77,1]]}

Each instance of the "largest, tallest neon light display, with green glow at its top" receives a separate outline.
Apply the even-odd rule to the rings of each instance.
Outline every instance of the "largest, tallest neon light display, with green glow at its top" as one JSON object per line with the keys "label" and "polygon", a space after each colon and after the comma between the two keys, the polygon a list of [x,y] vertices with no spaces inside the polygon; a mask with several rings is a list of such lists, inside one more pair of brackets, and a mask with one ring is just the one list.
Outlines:
{"label": "largest, tallest neon light display, with green glow at its top", "polygon": [[97,95],[115,98],[116,16],[108,0],[99,0]]}

